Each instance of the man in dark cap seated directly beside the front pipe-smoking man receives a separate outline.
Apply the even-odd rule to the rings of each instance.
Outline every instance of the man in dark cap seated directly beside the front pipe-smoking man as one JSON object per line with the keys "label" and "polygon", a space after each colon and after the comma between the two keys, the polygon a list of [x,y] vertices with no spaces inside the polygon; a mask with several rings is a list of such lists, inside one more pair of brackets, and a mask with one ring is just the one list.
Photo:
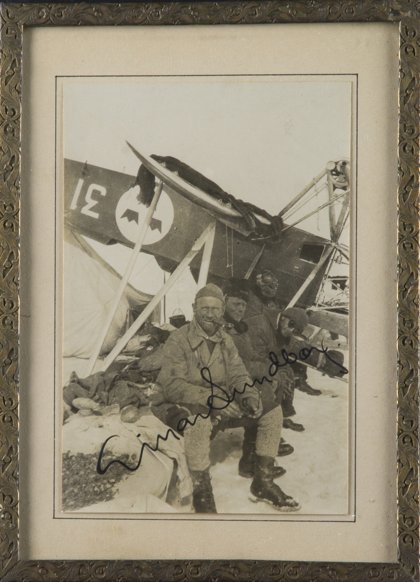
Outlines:
{"label": "man in dark cap seated directly beside the front pipe-smoking man", "polygon": [[[248,370],[252,380],[255,378],[261,379],[263,376],[269,378],[269,362],[267,362],[268,352],[264,361],[255,354],[252,342],[249,337],[248,324],[242,321],[243,315],[245,314],[246,304],[249,300],[249,292],[246,288],[246,281],[243,279],[228,279],[223,287],[225,292],[225,313],[224,321],[226,325],[224,326],[225,331],[234,340],[234,344],[237,347],[239,357],[241,357],[243,363],[245,364],[246,370]],[[268,411],[270,407],[276,407],[281,404],[281,399],[283,397],[283,385],[279,385],[276,379],[271,379],[271,384],[269,382],[264,382],[260,386],[260,391],[262,392],[263,400],[263,412]],[[283,418],[282,418],[283,424]],[[245,424],[245,432],[243,434],[243,456],[239,461],[239,474],[242,477],[251,477],[252,474],[248,469],[247,465],[252,463],[252,456],[255,453],[255,442],[256,442],[256,422],[248,422]],[[291,455],[293,452],[293,447],[284,442],[284,438],[280,439],[280,445],[278,445],[277,456]],[[283,469],[280,471],[281,467],[277,468],[277,474],[273,477],[280,477],[281,474],[285,473]]]}

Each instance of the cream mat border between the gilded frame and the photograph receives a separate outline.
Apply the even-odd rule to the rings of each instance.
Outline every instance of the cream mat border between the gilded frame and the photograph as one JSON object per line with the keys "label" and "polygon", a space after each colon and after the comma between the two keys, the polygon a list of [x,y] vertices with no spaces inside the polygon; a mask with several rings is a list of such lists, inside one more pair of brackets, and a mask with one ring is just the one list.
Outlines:
{"label": "cream mat border between the gilded frame and the photograph", "polygon": [[[396,559],[395,319],[383,314],[392,314],[396,303],[397,26],[26,29],[24,34],[20,558]],[[51,46],[60,50],[52,54]],[[188,525],[159,519],[54,520],[55,76],[232,73],[358,74],[356,521],[231,521],[223,523],[221,537],[218,522],[208,520]],[[30,329],[24,326],[26,315]],[[372,329],[383,344],[375,346]]]}

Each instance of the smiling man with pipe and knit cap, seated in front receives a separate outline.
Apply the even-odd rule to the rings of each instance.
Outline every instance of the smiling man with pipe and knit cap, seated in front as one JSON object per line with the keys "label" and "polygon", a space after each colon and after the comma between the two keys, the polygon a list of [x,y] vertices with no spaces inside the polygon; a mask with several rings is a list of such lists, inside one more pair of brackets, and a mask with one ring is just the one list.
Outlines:
{"label": "smiling man with pipe and knit cap, seated in front", "polygon": [[[281,437],[281,410],[276,407],[262,416],[259,391],[250,388],[252,382],[238,350],[219,323],[224,313],[221,289],[213,284],[200,289],[193,311],[190,324],[172,332],[168,338],[157,383],[165,399],[177,405],[174,407],[178,410],[182,409],[176,428],[184,438],[196,513],[216,513],[209,475],[212,409],[225,418],[258,419],[255,473],[250,491],[255,501],[269,501],[276,509],[299,509],[298,503],[273,482],[274,457]],[[173,418],[172,413],[172,426]],[[167,423],[171,425],[169,419]]]}

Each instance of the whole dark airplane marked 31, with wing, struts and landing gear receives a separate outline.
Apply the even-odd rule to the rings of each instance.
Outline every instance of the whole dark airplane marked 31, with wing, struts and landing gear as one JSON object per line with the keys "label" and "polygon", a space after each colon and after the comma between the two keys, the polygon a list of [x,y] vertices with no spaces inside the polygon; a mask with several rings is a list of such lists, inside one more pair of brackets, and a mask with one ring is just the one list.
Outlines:
{"label": "whole dark airplane marked 31, with wing, struts and landing gear", "polygon": [[[198,288],[232,277],[252,280],[257,273],[271,271],[279,282],[276,300],[281,308],[310,307],[311,324],[348,336],[348,279],[330,275],[334,262],[349,260],[348,246],[340,242],[349,220],[348,159],[327,162],[297,196],[270,215],[234,198],[176,158],[144,155],[128,145],[140,161],[137,176],[88,162],[64,162],[65,228],[105,245],[121,243],[133,249],[91,355],[90,372],[140,250],[154,255],[170,277],[103,360],[102,370],[187,268]],[[320,193],[322,203],[305,214],[305,205]],[[322,210],[329,214],[329,239],[299,228]],[[296,214],[300,218],[294,219]],[[337,290],[330,299],[324,293],[327,285]]]}

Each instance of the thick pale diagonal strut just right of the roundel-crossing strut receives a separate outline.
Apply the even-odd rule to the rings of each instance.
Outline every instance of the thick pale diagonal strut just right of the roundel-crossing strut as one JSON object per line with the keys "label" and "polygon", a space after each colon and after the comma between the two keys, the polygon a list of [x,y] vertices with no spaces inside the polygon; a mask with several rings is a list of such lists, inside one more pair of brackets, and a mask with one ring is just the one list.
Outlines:
{"label": "thick pale diagonal strut just right of the roundel-crossing strut", "polygon": [[[129,340],[140,329],[140,327],[142,327],[142,325],[147,320],[147,318],[149,317],[151,312],[154,310],[154,308],[158,305],[158,303],[160,303],[160,301],[163,299],[163,297],[171,289],[172,285],[174,285],[174,283],[178,281],[179,277],[182,275],[182,273],[188,267],[190,262],[193,260],[193,258],[196,256],[196,254],[199,253],[199,251],[202,249],[203,244],[206,243],[206,241],[209,240],[212,236],[214,237],[214,230],[216,230],[216,222],[211,222],[209,224],[209,226],[207,226],[207,228],[205,230],[203,230],[202,235],[193,244],[192,249],[189,251],[188,254],[185,255],[185,257],[179,263],[178,267],[172,273],[172,275],[170,276],[168,281],[166,283],[164,283],[163,286],[161,286],[161,288],[158,290],[158,292],[153,297],[153,299],[151,299],[151,301],[147,304],[147,306],[144,308],[142,313],[140,313],[139,317],[137,317],[136,321],[133,322],[133,324],[125,332],[125,334],[122,336],[122,338],[120,338],[118,340],[114,349],[112,349],[111,352],[108,354],[108,356],[105,358],[105,360],[103,362],[101,362],[101,365],[98,368],[98,371],[107,370],[108,367],[115,360],[115,358],[118,356],[118,354],[122,352],[122,350],[125,348],[125,346],[129,342]],[[210,247],[210,245],[209,245],[209,247]],[[209,251],[209,247],[207,247],[206,253]],[[206,254],[206,253],[203,253],[203,258],[204,258],[204,254]],[[205,267],[203,268],[203,272],[204,272],[204,269],[205,269]],[[208,267],[207,267],[207,270],[208,270]],[[200,269],[200,271],[201,271],[201,269]]]}

